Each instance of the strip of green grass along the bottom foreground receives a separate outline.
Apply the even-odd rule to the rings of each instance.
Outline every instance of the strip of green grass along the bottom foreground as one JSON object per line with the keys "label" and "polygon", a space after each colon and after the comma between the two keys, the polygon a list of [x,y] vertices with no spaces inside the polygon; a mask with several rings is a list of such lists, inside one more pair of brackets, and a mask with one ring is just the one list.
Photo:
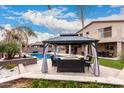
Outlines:
{"label": "strip of green grass along the bottom foreground", "polygon": [[75,81],[55,81],[55,80],[34,80],[32,88],[123,88],[120,85],[99,84],[99,83],[83,83]]}

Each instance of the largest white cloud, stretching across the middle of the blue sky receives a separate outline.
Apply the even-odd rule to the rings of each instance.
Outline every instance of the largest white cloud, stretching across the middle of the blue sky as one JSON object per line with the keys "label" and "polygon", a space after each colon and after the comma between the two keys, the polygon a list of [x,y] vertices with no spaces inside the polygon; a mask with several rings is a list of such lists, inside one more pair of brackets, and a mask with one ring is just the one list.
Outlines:
{"label": "largest white cloud, stretching across the middle of the blue sky", "polygon": [[[66,8],[57,9],[54,8],[52,10],[47,11],[33,11],[28,10],[23,13],[22,17],[25,20],[31,21],[35,25],[41,25],[47,27],[48,29],[55,31],[56,33],[74,33],[81,29],[80,20],[70,20],[68,21],[64,17],[74,17],[75,14],[72,13],[63,13]],[[63,16],[63,18],[62,18]]]}

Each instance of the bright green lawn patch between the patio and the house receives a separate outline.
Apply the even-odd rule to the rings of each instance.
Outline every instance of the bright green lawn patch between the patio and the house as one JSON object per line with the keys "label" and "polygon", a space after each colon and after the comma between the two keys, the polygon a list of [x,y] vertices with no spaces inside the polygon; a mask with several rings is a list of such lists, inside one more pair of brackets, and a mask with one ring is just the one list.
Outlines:
{"label": "bright green lawn patch between the patio and the house", "polygon": [[99,58],[100,65],[116,68],[116,69],[123,69],[124,63],[121,63],[119,60],[109,60],[109,59],[103,59]]}

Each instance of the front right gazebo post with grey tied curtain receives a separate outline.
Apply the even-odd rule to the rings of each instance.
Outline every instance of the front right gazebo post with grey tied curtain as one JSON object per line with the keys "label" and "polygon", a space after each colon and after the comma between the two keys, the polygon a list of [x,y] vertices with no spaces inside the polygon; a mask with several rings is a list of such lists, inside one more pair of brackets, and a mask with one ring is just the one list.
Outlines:
{"label": "front right gazebo post with grey tied curtain", "polygon": [[92,43],[92,54],[93,54],[93,72],[95,76],[100,76],[100,69],[99,69],[99,61],[98,61],[98,54],[97,54],[97,45]]}

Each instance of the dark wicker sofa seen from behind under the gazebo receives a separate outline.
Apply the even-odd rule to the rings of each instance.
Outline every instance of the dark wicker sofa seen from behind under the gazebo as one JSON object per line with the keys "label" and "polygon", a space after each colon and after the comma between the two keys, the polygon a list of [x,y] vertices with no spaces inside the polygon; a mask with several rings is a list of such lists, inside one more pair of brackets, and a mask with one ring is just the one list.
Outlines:
{"label": "dark wicker sofa seen from behind under the gazebo", "polygon": [[85,72],[84,60],[57,59],[57,72]]}

